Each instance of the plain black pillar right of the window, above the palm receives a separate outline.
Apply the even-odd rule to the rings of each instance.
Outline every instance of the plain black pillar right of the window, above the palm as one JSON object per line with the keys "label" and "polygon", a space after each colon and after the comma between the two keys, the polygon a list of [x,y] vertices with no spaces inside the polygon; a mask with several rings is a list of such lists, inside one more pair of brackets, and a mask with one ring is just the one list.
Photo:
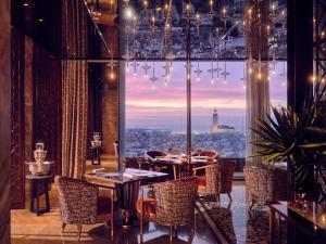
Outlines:
{"label": "plain black pillar right of the window, above the palm", "polygon": [[300,112],[312,89],[313,1],[288,1],[288,105]]}

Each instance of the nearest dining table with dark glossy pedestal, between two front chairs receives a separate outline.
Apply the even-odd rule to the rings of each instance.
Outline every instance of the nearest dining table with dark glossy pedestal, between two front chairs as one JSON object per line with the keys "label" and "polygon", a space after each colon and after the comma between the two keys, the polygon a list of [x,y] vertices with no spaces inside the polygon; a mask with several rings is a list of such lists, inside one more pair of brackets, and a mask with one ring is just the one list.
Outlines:
{"label": "nearest dining table with dark glossy pedestal, between two front chairs", "polygon": [[126,168],[117,172],[95,170],[84,175],[86,181],[101,188],[116,191],[117,206],[121,209],[120,226],[137,224],[136,203],[140,184],[161,182],[168,179],[168,174]]}

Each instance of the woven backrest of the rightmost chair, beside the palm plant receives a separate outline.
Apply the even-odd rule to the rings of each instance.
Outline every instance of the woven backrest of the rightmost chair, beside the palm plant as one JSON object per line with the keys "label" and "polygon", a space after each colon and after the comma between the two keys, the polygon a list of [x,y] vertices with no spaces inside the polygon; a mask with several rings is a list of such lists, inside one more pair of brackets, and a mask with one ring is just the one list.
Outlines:
{"label": "woven backrest of the rightmost chair, beside the palm plant", "polygon": [[247,187],[247,200],[249,202],[265,205],[276,200],[274,170],[264,167],[246,166],[243,174]]}

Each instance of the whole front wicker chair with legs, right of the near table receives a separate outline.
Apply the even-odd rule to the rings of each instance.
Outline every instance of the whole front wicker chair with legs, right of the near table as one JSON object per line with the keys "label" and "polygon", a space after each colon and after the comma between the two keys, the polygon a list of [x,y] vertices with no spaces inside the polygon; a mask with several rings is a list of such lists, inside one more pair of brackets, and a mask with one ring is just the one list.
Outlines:
{"label": "whole front wicker chair with legs, right of the near table", "polygon": [[177,226],[190,226],[193,236],[198,178],[190,177],[150,187],[153,190],[153,197],[145,198],[145,188],[141,188],[141,196],[137,201],[137,210],[140,215],[140,241],[142,242],[145,219],[170,226],[171,241]]}

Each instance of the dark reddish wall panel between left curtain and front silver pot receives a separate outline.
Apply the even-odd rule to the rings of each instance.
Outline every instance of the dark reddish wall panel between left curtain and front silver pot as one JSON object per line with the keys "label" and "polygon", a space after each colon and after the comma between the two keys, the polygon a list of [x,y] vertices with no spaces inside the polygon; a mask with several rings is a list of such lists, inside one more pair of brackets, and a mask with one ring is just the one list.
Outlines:
{"label": "dark reddish wall panel between left curtain and front silver pot", "polygon": [[34,144],[43,142],[50,174],[61,175],[61,61],[34,48]]}

